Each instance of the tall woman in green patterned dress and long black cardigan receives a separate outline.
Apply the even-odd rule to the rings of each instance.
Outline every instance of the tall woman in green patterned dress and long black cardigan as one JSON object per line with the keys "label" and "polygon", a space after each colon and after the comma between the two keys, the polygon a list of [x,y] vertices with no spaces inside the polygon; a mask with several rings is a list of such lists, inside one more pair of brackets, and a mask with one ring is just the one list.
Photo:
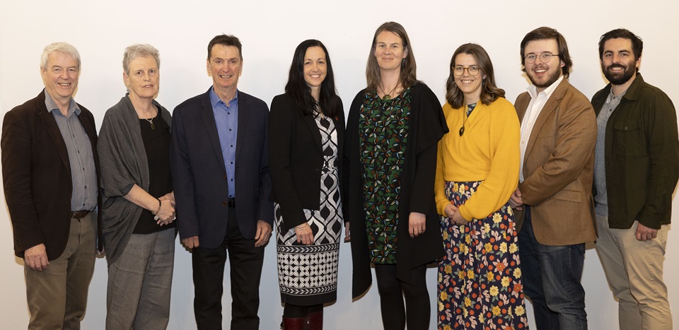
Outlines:
{"label": "tall woman in green patterned dress and long black cardigan", "polygon": [[381,25],[368,56],[368,86],[352,102],[344,144],[352,295],[368,290],[374,264],[382,322],[390,330],[428,329],[426,264],[443,256],[434,174],[436,143],[448,128],[439,100],[415,71],[405,29]]}

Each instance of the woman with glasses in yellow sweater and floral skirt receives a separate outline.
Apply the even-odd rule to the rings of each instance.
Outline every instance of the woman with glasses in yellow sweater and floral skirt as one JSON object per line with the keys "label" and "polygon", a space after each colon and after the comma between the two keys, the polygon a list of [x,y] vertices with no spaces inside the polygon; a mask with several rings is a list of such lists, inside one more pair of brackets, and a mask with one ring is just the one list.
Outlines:
{"label": "woman with glasses in yellow sweater and floral skirt", "polygon": [[[439,261],[439,329],[525,329],[517,232],[509,197],[518,184],[516,110],[495,86],[479,45],[451,59],[439,142],[436,208],[446,255]],[[513,328],[512,328],[513,327]]]}

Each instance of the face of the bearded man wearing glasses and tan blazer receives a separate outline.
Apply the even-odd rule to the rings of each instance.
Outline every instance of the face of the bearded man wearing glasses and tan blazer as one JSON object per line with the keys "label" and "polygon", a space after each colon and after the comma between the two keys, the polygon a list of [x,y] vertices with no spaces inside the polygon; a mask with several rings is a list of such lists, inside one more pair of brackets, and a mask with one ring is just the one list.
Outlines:
{"label": "face of the bearded man wearing glasses and tan blazer", "polygon": [[[542,62],[542,59],[540,59],[542,54],[545,53],[554,55],[547,63]],[[559,46],[555,39],[540,39],[528,42],[523,56],[526,57],[530,54],[538,58],[535,59],[534,63],[526,61],[526,74],[530,82],[538,88],[538,93],[540,93],[562,76],[563,71],[561,68],[566,64],[557,56],[559,54]]]}

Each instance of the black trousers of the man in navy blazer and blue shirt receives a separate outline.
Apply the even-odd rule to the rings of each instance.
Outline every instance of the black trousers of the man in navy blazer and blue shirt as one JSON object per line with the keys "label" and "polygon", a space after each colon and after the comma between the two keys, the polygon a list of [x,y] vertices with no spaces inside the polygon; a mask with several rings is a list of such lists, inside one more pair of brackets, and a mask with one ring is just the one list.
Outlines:
{"label": "black trousers of the man in navy blazer and blue shirt", "polygon": [[193,308],[198,329],[222,329],[221,297],[224,293],[224,265],[228,254],[231,267],[231,329],[259,329],[260,278],[264,247],[240,234],[236,208],[229,208],[224,242],[216,249],[193,249]]}

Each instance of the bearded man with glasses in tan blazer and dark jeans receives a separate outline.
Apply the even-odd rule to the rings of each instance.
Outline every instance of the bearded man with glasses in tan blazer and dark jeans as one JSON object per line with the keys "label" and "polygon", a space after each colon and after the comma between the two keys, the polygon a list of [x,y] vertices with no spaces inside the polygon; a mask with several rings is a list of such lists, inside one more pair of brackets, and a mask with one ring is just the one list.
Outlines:
{"label": "bearded man with glasses in tan blazer and dark jeans", "polygon": [[521,42],[523,71],[533,83],[516,98],[521,173],[511,196],[524,293],[538,329],[587,329],[580,284],[585,242],[596,239],[592,175],[596,117],[567,81],[572,61],[564,37],[537,28]]}

